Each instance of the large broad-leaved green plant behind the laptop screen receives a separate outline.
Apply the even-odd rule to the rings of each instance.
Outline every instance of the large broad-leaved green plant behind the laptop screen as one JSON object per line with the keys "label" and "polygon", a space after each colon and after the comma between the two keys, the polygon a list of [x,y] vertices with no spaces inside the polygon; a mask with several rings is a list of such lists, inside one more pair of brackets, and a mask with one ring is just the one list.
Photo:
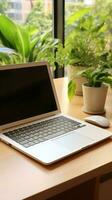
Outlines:
{"label": "large broad-leaved green plant behind the laptop screen", "polygon": [[[53,48],[57,48],[59,41],[52,39],[50,34],[48,31],[40,35],[36,28],[20,26],[7,16],[0,15],[0,63],[46,60],[55,66]],[[5,52],[4,47],[8,48]]]}

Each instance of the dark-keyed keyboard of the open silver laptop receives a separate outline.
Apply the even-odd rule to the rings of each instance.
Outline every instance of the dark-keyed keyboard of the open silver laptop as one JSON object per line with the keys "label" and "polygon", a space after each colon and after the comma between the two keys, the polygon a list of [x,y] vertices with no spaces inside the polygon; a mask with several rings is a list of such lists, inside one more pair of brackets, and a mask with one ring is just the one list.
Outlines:
{"label": "dark-keyed keyboard of the open silver laptop", "polygon": [[64,116],[42,121],[4,133],[24,147],[30,147],[40,142],[55,138],[70,131],[85,126]]}

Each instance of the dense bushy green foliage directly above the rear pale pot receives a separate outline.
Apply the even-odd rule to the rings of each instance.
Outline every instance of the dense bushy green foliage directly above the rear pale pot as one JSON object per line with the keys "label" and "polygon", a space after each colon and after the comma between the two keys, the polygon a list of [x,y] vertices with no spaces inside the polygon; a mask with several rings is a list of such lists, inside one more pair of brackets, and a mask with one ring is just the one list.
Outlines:
{"label": "dense bushy green foliage directly above the rear pale pot", "polygon": [[97,65],[98,55],[95,54],[94,45],[87,33],[74,32],[66,43],[69,65],[82,67]]}

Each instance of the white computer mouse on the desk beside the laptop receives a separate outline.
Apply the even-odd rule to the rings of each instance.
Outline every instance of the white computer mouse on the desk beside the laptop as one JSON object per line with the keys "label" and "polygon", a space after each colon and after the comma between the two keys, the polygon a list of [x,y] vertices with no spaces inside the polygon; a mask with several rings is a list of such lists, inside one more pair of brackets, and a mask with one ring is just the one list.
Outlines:
{"label": "white computer mouse on the desk beside the laptop", "polygon": [[96,126],[100,126],[102,128],[108,128],[110,126],[110,122],[106,117],[100,115],[92,115],[85,118],[86,122],[94,124]]}

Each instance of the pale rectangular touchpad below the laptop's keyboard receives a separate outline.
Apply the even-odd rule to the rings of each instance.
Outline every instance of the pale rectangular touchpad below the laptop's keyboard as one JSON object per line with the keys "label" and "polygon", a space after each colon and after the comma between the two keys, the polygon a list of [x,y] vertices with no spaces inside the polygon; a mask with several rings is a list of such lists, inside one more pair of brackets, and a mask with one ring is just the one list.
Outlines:
{"label": "pale rectangular touchpad below the laptop's keyboard", "polygon": [[60,145],[61,147],[66,147],[67,149],[74,151],[91,145],[93,140],[86,136],[82,136],[79,133],[71,133],[69,135],[60,136],[59,138],[54,138],[52,139],[52,142]]}

